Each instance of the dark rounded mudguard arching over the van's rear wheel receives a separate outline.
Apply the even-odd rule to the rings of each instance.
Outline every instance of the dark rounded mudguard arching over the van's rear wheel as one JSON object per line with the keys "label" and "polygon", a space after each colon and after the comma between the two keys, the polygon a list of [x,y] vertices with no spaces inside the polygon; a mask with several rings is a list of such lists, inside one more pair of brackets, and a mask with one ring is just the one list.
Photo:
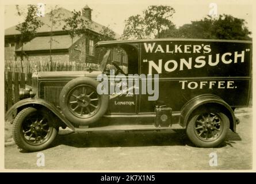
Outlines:
{"label": "dark rounded mudguard arching over the van's rear wheel", "polygon": [[181,116],[179,119],[179,123],[182,125],[182,127],[186,127],[186,124],[188,123],[188,119],[190,114],[197,109],[201,105],[206,104],[214,104],[217,106],[220,106],[220,108],[223,108],[228,112],[228,118],[230,119],[230,129],[233,132],[236,132],[236,118],[234,114],[234,110],[228,105],[223,99],[218,97],[217,95],[212,94],[203,94],[199,95],[195,98],[190,99],[186,104],[182,107],[181,110]]}

